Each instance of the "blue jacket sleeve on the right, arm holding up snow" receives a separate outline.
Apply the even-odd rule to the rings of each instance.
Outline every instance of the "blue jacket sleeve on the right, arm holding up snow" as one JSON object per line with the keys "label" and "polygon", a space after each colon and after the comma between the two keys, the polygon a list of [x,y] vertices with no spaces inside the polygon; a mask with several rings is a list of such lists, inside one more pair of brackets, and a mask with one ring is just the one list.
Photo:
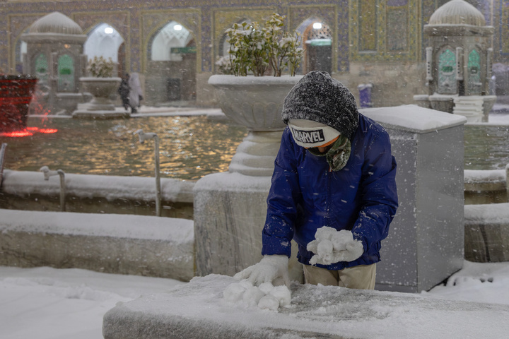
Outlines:
{"label": "blue jacket sleeve on the right, arm holding up snow", "polygon": [[353,237],[363,242],[364,251],[378,246],[389,232],[398,206],[396,169],[389,135],[379,129],[365,145],[363,175],[359,183],[361,208],[352,229]]}

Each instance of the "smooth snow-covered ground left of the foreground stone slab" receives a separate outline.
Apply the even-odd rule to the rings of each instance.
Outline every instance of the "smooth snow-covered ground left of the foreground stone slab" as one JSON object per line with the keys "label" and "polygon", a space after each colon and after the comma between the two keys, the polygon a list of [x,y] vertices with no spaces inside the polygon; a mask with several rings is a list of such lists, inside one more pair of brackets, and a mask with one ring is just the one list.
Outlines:
{"label": "smooth snow-covered ground left of the foreground stone slab", "polygon": [[181,284],[76,268],[0,266],[0,338],[103,338],[103,315],[117,302]]}

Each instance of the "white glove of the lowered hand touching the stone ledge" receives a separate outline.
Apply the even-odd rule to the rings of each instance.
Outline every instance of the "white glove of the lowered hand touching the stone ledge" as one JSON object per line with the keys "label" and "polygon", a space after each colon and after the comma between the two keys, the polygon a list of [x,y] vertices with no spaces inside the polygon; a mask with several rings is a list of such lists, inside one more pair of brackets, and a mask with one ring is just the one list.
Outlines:
{"label": "white glove of the lowered hand touching the stone ledge", "polygon": [[259,263],[241,270],[239,273],[233,275],[233,278],[238,280],[247,279],[254,286],[259,286],[262,283],[274,283],[274,280],[282,278],[286,286],[290,286],[290,278],[288,276],[288,256],[264,256]]}

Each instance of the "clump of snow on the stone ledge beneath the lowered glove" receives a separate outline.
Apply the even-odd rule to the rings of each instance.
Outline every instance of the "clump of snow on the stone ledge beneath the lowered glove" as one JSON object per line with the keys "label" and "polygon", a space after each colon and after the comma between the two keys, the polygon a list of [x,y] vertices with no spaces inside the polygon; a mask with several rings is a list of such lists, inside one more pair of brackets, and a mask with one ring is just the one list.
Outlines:
{"label": "clump of snow on the stone ledge beneath the lowered glove", "polygon": [[248,280],[242,280],[228,285],[223,291],[223,298],[232,304],[277,311],[279,307],[290,304],[291,292],[286,285],[274,287],[271,283],[262,283],[257,287]]}

